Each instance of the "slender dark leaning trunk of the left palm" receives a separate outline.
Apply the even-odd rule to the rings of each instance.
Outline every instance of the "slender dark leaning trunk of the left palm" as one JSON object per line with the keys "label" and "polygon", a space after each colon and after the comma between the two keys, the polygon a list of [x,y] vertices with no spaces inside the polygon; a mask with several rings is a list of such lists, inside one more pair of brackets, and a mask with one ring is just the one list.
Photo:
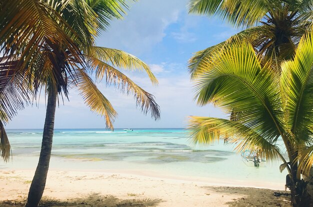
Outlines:
{"label": "slender dark leaning trunk of the left palm", "polygon": [[49,90],[39,162],[30,185],[25,207],[37,207],[43,194],[51,156],[56,99],[57,92],[53,89]]}

